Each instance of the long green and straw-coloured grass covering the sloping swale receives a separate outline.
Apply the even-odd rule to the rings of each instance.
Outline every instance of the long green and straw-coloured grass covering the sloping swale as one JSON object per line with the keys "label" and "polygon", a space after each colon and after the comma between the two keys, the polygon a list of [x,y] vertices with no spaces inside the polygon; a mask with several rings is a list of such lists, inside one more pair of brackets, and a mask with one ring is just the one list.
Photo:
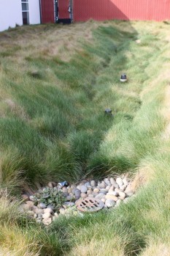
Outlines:
{"label": "long green and straw-coloured grass covering the sloping swale", "polygon": [[[0,255],[169,256],[169,28],[88,21],[0,33]],[[18,213],[21,191],[127,172],[137,192],[118,208],[50,227]]]}

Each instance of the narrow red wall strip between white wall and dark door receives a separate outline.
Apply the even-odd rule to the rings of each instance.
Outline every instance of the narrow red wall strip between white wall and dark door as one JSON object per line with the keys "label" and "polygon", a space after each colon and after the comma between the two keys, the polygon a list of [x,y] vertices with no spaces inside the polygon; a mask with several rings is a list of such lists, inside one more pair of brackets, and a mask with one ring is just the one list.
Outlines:
{"label": "narrow red wall strip between white wall and dark door", "polygon": [[54,0],[41,0],[42,23],[54,23]]}

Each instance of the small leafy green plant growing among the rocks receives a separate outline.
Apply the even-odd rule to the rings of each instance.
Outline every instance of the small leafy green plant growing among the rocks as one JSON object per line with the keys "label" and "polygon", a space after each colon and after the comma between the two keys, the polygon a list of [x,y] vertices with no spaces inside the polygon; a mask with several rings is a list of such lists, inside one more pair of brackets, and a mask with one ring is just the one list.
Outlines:
{"label": "small leafy green plant growing among the rocks", "polygon": [[55,211],[59,211],[65,201],[66,197],[64,197],[63,192],[55,188],[39,189],[38,193],[34,194],[36,204],[42,202],[45,205],[51,205]]}

